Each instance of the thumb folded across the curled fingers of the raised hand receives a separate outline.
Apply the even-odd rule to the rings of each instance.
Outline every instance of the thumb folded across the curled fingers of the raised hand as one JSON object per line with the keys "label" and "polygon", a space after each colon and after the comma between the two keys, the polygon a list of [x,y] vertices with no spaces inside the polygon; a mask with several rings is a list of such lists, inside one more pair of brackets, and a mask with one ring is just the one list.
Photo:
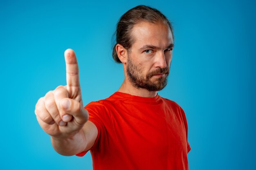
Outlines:
{"label": "thumb folded across the curled fingers of the raised hand", "polygon": [[67,114],[72,115],[80,125],[85,124],[85,122],[88,121],[88,111],[83,108],[80,102],[74,99],[64,98],[61,100],[61,107],[64,111],[61,117],[64,118]]}

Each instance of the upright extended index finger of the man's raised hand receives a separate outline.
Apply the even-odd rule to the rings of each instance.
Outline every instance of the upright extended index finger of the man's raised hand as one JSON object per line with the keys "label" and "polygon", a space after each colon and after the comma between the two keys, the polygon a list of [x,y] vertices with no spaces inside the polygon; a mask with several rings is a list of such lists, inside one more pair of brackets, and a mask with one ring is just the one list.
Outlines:
{"label": "upright extended index finger of the man's raised hand", "polygon": [[80,88],[79,69],[76,54],[72,49],[67,49],[64,53],[66,62],[67,90],[72,91],[72,87]]}

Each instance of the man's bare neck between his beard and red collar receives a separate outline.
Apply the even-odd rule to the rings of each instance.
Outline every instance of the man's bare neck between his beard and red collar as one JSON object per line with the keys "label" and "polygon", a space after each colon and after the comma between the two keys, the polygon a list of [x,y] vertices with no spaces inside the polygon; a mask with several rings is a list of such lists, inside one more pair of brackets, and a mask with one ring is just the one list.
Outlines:
{"label": "man's bare neck between his beard and red collar", "polygon": [[144,88],[136,88],[126,79],[124,80],[118,91],[140,97],[155,97],[157,95],[157,91],[148,91]]}

